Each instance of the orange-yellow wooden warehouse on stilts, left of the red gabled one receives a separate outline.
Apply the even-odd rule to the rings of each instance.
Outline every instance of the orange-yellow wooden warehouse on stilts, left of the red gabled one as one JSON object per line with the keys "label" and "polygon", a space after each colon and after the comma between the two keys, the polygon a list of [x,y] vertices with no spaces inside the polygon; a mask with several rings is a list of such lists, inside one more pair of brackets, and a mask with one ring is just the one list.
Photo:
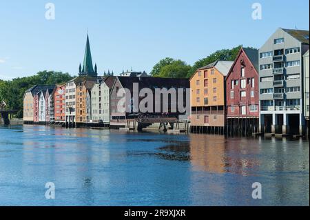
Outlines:
{"label": "orange-yellow wooden warehouse on stilts, left of the red gabled one", "polygon": [[190,79],[191,131],[223,134],[225,128],[225,77],[232,61],[215,61],[199,68]]}

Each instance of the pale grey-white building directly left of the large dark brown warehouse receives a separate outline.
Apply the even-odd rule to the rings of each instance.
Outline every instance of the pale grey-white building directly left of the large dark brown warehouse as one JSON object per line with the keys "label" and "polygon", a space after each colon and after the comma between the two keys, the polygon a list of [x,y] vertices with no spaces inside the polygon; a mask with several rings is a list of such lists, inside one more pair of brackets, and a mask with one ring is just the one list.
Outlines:
{"label": "pale grey-white building directly left of the large dark brown warehouse", "polygon": [[110,123],[110,92],[116,77],[103,77],[92,88],[92,122]]}

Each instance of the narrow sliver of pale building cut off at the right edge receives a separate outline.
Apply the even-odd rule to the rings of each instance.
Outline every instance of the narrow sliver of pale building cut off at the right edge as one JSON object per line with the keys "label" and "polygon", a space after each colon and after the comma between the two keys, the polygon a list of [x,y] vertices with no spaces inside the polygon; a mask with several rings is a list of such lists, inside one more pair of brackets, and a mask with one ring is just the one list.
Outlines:
{"label": "narrow sliver of pale building cut off at the right edge", "polygon": [[309,50],[304,54],[304,118],[306,134],[309,137]]}

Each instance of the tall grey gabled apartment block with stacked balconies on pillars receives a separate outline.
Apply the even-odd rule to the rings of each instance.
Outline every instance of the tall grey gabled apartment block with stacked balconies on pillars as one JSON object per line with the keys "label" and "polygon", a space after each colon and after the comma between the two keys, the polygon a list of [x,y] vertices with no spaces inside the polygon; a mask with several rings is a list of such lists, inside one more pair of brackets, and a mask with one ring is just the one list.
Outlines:
{"label": "tall grey gabled apartment block with stacked balconies on pillars", "polygon": [[260,132],[302,134],[302,55],[309,30],[279,28],[260,48]]}

